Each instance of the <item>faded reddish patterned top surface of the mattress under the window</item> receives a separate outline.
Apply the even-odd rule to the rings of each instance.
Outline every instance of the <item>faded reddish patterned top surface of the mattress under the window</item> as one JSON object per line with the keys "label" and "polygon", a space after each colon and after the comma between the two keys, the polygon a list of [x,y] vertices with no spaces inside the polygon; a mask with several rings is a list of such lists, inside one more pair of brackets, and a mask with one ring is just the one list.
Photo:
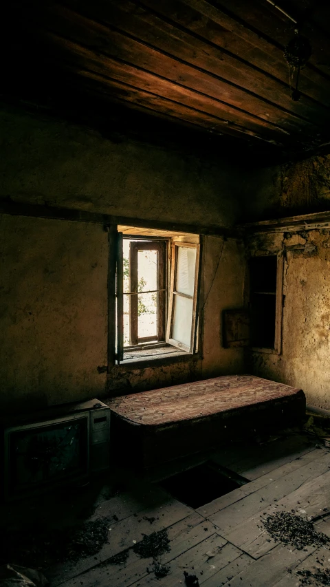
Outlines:
{"label": "faded reddish patterned top surface of the mattress under the window", "polygon": [[107,404],[132,423],[159,426],[294,396],[305,397],[301,389],[283,383],[231,375],[121,396]]}

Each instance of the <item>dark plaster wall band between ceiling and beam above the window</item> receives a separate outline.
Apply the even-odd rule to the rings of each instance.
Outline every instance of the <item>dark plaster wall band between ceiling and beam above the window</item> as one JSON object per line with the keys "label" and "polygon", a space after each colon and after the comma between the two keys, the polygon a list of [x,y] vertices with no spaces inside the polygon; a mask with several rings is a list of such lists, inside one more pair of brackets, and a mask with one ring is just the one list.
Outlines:
{"label": "dark plaster wall band between ceiling and beam above the window", "polygon": [[207,156],[111,142],[23,111],[0,111],[0,198],[141,220],[230,226],[239,169]]}

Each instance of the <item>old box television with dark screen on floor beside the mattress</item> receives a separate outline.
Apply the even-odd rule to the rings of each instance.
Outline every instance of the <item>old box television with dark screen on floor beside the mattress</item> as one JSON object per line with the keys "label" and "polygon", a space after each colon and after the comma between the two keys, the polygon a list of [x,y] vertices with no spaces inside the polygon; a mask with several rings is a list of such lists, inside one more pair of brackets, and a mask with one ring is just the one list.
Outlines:
{"label": "old box television with dark screen on floor beside the mattress", "polygon": [[110,410],[102,402],[56,407],[24,420],[3,427],[6,500],[81,482],[109,467]]}

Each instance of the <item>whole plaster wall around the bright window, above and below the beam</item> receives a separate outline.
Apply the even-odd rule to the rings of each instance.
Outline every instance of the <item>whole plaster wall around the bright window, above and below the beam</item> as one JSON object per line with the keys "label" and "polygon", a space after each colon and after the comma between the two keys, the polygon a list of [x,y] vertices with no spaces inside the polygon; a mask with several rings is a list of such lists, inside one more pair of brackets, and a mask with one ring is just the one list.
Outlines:
{"label": "whole plaster wall around the bright window, above and below the beam", "polygon": [[[0,114],[0,198],[196,226],[230,226],[240,175],[210,162],[19,111]],[[222,346],[225,308],[243,304],[239,242],[203,246],[203,359],[163,367],[107,365],[107,233],[102,226],[1,216],[0,360],[3,409],[243,372],[243,351]],[[219,259],[219,257],[221,257]],[[218,264],[219,261],[219,264]]]}

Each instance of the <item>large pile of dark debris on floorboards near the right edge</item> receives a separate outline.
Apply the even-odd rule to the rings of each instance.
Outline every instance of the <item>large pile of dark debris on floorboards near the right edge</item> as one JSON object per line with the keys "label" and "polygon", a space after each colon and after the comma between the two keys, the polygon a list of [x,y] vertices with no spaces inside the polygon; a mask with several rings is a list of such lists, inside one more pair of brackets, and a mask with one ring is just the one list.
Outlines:
{"label": "large pile of dark debris on floorboards near the right edge", "polygon": [[291,544],[303,550],[306,546],[322,546],[330,542],[330,538],[314,529],[313,522],[287,511],[276,511],[267,515],[263,524],[268,533],[283,544]]}

